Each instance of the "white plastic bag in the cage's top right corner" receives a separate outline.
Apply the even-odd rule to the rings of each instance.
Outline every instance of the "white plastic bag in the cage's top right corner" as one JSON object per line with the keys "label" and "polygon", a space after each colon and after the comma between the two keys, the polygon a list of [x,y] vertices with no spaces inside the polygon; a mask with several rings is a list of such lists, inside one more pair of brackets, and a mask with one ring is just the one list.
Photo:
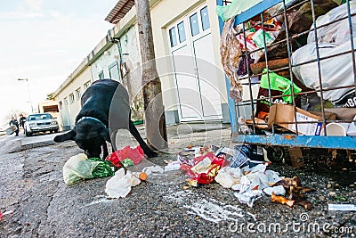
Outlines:
{"label": "white plastic bag in the cage's top right corner", "polygon": [[[356,1],[350,1],[350,11],[352,14],[356,12]],[[342,21],[337,21],[331,25],[317,29],[317,37],[319,43],[334,43],[336,45],[343,45],[350,41],[350,27],[349,19],[347,18],[347,4],[342,4],[328,13],[320,16],[316,20],[317,28],[328,24],[331,21],[337,21],[346,18]],[[314,26],[312,25],[311,32],[308,35],[308,44],[315,42]],[[352,32],[356,32],[356,18],[352,16]]]}

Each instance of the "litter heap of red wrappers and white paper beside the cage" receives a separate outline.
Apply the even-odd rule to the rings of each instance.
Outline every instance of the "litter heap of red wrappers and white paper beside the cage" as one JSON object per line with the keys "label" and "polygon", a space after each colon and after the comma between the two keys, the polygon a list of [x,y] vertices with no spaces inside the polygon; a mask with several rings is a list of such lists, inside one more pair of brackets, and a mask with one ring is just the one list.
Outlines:
{"label": "litter heap of red wrappers and white paper beside the cage", "polygon": [[239,202],[249,207],[267,194],[271,196],[271,201],[287,204],[290,208],[296,203],[304,209],[312,209],[312,203],[306,201],[304,193],[313,190],[303,187],[297,176],[284,178],[278,172],[267,169],[269,162],[264,160],[262,146],[237,144],[234,150],[188,146],[178,153],[177,161],[189,176],[186,179],[188,185],[198,187],[215,181],[235,191]]}

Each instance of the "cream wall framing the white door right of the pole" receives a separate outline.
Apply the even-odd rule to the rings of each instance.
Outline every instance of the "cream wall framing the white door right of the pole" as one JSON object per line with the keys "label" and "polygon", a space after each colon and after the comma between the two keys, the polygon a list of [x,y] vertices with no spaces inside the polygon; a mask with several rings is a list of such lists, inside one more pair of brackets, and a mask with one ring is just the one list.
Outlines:
{"label": "cream wall framing the white door right of the pole", "polygon": [[[174,21],[178,21],[183,16],[189,14],[198,6],[206,4],[209,12],[209,21],[211,26],[211,35],[214,44],[214,59],[217,67],[216,77],[218,78],[218,91],[221,96],[222,108],[223,108],[223,121],[229,121],[229,111],[227,108],[226,99],[226,85],[223,74],[223,66],[220,62],[220,29],[219,21],[214,9],[216,2],[214,0],[180,0],[179,2],[174,0],[158,1],[151,7],[151,21],[152,21],[152,33],[155,45],[155,53],[158,58],[158,74],[163,74],[167,69],[173,72],[173,65],[171,60],[167,58],[170,55],[170,45],[167,34],[167,27]],[[165,60],[159,60],[164,59]],[[174,90],[175,81],[174,75],[166,75],[160,77],[163,88],[163,98],[166,110],[176,111],[178,103],[178,96],[176,90]],[[176,117],[176,113],[166,113],[169,117]],[[167,115],[166,115],[167,117]],[[173,118],[173,119],[174,119]]]}

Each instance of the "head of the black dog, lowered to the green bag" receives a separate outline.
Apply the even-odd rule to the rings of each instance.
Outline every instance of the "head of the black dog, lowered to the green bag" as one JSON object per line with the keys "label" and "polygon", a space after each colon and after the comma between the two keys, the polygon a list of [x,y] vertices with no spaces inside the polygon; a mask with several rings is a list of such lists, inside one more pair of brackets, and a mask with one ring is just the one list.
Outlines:
{"label": "head of the black dog, lowered to the green bag", "polygon": [[100,158],[101,144],[110,142],[109,129],[101,122],[82,120],[69,132],[54,137],[54,142],[73,140],[88,158]]}

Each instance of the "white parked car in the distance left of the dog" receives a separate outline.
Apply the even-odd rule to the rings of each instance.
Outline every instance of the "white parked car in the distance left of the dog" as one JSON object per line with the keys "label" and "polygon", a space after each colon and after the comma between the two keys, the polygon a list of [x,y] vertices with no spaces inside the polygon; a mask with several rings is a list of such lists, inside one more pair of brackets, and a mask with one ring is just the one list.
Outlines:
{"label": "white parked car in the distance left of the dog", "polygon": [[31,136],[36,132],[56,133],[59,131],[57,119],[53,118],[50,113],[38,113],[28,115],[25,122],[25,135]]}

